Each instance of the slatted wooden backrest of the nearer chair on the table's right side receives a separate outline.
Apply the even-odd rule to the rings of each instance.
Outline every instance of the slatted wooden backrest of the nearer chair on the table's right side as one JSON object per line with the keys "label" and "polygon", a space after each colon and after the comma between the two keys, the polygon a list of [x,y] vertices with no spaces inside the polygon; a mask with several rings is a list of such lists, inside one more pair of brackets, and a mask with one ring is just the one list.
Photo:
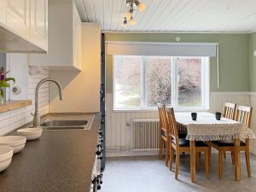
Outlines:
{"label": "slatted wooden backrest of the nearer chair on the table's right side", "polygon": [[253,108],[247,106],[237,106],[236,108],[236,121],[241,122],[247,127],[251,127],[251,119],[252,119]]}

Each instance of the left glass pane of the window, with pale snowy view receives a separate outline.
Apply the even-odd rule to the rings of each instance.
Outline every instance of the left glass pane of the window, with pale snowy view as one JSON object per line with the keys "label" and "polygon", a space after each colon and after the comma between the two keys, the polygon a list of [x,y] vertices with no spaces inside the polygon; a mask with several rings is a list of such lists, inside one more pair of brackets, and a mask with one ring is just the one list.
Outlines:
{"label": "left glass pane of the window, with pale snowy view", "polygon": [[141,56],[116,55],[114,79],[115,108],[141,106]]}

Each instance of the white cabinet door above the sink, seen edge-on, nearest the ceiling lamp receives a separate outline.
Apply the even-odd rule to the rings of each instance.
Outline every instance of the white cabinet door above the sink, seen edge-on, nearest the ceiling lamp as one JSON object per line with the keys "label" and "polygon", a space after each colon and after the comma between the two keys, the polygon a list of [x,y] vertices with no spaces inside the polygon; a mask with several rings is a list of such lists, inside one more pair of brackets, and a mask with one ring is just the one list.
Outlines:
{"label": "white cabinet door above the sink, seen edge-on, nearest the ceiling lamp", "polygon": [[82,40],[82,22],[73,5],[73,65],[79,69],[82,69]]}

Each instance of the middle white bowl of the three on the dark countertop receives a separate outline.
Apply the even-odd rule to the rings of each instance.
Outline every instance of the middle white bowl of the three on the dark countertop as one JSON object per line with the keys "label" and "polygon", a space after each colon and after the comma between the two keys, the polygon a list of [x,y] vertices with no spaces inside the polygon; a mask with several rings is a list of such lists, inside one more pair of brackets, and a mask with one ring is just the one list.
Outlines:
{"label": "middle white bowl of the three on the dark countertop", "polygon": [[14,154],[20,152],[26,144],[26,137],[23,136],[1,136],[0,145],[8,145],[14,148]]}

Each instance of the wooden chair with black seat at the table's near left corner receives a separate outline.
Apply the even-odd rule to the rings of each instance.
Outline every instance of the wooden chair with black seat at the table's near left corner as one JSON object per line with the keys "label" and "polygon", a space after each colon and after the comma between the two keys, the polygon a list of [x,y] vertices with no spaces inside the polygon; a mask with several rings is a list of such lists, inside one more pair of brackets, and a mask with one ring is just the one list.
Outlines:
{"label": "wooden chair with black seat at the table's near left corner", "polygon": [[[178,175],[178,166],[179,166],[179,155],[183,152],[189,152],[189,141],[185,138],[178,137],[177,133],[177,122],[175,119],[175,114],[173,108],[166,108],[167,112],[167,119],[168,119],[168,125],[171,135],[171,148],[170,148],[170,170],[172,170],[172,162],[173,162],[173,156],[174,151],[176,152],[176,164],[175,164],[175,178],[177,179]],[[199,152],[205,153],[205,172],[206,177],[208,177],[209,172],[209,152],[211,151],[211,148],[203,142],[195,142],[195,152],[198,154]]]}

